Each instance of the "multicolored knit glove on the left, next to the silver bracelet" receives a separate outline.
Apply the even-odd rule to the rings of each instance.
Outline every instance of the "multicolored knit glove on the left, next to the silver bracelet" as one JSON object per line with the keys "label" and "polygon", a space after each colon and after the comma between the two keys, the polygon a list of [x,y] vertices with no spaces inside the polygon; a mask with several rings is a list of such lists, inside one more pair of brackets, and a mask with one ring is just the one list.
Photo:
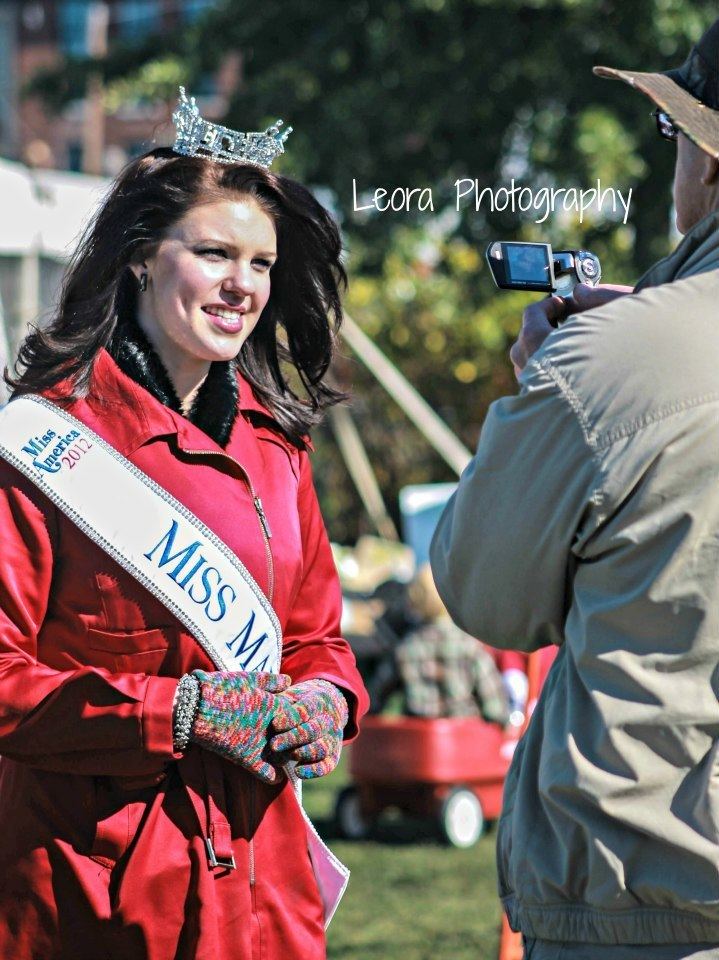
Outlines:
{"label": "multicolored knit glove on the left, next to the silver bracelet", "polygon": [[274,783],[277,770],[263,752],[270,723],[282,705],[281,695],[292,682],[286,674],[205,673],[194,670],[200,701],[190,739],[206,750],[238,763],[260,780]]}

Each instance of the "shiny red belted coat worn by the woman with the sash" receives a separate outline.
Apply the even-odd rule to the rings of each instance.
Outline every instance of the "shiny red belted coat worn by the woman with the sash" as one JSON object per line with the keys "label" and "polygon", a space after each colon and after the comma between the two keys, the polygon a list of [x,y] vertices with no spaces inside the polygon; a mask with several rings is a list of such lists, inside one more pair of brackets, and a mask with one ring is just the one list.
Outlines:
{"label": "shiny red belted coat worn by the woman with the sash", "polygon": [[[253,425],[267,411],[240,393],[225,451],[105,351],[69,409],[242,560],[282,624],[282,671],[347,691],[352,737],[367,700],[308,456]],[[195,668],[214,669],[186,629],[0,461],[0,957],[324,957],[291,788],[173,754],[177,678]],[[237,869],[209,869],[208,833]]]}

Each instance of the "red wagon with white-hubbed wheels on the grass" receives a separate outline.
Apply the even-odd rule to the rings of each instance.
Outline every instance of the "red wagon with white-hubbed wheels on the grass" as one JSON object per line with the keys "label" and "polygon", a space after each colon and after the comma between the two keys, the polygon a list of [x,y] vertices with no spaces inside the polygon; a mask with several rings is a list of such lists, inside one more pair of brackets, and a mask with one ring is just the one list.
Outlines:
{"label": "red wagon with white-hubbed wheels on the grass", "polygon": [[514,745],[500,726],[477,717],[366,717],[349,748],[353,783],[337,798],[339,829],[361,839],[395,807],[437,818],[448,843],[471,847],[499,816]]}

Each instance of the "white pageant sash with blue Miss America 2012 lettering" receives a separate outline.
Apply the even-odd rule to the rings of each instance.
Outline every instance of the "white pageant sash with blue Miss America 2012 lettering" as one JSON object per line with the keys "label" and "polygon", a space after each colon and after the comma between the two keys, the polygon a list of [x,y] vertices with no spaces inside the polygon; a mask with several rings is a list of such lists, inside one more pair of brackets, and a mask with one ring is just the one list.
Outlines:
{"label": "white pageant sash with blue Miss America 2012 lettering", "polygon": [[[218,670],[279,671],[280,623],[244,564],[84,423],[44,397],[19,397],[0,411],[0,456],[157,597]],[[301,805],[301,782],[288,773]],[[302,812],[327,926],[349,870]]]}

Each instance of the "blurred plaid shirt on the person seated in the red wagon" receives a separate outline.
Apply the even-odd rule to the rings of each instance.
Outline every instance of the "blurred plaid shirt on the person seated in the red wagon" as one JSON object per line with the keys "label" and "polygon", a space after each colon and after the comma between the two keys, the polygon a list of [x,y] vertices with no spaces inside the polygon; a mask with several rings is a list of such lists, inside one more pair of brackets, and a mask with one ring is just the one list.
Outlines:
{"label": "blurred plaid shirt on the person seated in the red wagon", "polygon": [[[415,717],[476,717],[506,724],[507,697],[491,654],[449,619],[407,634],[372,686],[401,686]],[[373,704],[374,705],[374,704]]]}

